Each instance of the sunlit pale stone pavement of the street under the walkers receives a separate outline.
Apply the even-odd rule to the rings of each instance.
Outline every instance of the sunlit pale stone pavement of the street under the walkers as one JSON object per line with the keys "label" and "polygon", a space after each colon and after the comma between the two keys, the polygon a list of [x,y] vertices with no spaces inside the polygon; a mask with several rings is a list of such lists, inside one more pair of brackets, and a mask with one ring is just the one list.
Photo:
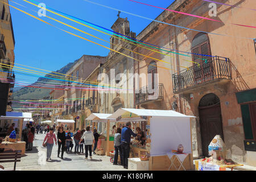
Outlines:
{"label": "sunlit pale stone pavement of the street under the walkers", "polygon": [[[120,171],[127,170],[122,166],[114,166],[110,163],[109,156],[93,155],[93,159],[85,160],[85,154],[67,154],[64,152],[64,159],[57,158],[57,146],[53,146],[51,162],[43,160],[42,156],[46,155],[46,148],[42,146],[43,139],[46,134],[36,134],[36,139],[33,142],[33,150],[26,151],[25,156],[21,158],[21,162],[16,163],[17,171],[72,171],[72,170],[86,170],[86,171]],[[72,152],[74,152],[74,147]],[[85,149],[84,149],[85,152]],[[1,163],[5,169],[13,169],[14,163]]]}

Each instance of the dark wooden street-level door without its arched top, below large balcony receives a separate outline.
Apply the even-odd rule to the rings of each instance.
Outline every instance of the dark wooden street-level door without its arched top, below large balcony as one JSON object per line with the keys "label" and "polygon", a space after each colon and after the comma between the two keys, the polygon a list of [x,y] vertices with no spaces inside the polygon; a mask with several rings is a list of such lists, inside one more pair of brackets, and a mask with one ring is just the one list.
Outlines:
{"label": "dark wooden street-level door without its arched top, below large balcony", "polygon": [[220,105],[205,107],[205,109],[199,109],[199,114],[203,155],[208,156],[208,146],[215,135],[221,135],[224,140],[221,107]]}

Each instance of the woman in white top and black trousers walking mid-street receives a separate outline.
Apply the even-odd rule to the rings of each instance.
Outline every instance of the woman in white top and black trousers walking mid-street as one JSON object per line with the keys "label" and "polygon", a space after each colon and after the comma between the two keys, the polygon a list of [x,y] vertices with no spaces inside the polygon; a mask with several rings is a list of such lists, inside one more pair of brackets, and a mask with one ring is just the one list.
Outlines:
{"label": "woman in white top and black trousers walking mid-street", "polygon": [[90,131],[90,126],[86,127],[86,131],[82,135],[79,144],[82,142],[82,139],[84,139],[84,144],[85,144],[85,159],[88,159],[88,150],[89,150],[90,159],[92,159],[92,144],[94,142],[94,136],[92,131]]}

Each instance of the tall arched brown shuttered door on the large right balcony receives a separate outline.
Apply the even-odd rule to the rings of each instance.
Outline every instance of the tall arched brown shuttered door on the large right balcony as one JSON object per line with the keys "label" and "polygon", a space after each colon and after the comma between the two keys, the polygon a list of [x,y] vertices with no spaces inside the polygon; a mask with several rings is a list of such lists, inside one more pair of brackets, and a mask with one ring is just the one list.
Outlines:
{"label": "tall arched brown shuttered door on the large right balcony", "polygon": [[[208,81],[213,76],[213,67],[210,62],[210,43],[207,34],[199,33],[192,41],[192,60],[194,80],[196,83]],[[199,64],[197,64],[199,63]]]}

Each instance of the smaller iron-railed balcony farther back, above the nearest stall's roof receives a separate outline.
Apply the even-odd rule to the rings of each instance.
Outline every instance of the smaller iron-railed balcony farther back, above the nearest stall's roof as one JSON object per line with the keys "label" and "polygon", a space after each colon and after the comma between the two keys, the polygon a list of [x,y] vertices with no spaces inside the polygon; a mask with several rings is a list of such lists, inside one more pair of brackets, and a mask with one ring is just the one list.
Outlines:
{"label": "smaller iron-railed balcony farther back, above the nearest stall's roof", "polygon": [[[163,84],[158,84],[157,88],[152,90],[152,93],[148,90],[148,85],[143,86],[137,92],[135,92],[135,104],[147,104],[150,101],[162,101],[163,100]],[[156,90],[156,92],[154,92]]]}

